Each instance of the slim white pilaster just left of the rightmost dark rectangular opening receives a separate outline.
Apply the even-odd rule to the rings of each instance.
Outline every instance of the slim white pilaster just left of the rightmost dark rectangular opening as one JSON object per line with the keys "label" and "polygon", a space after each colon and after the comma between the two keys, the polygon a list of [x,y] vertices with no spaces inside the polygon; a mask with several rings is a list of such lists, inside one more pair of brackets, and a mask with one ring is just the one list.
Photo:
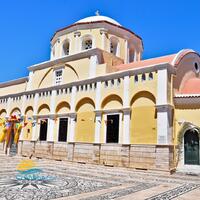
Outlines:
{"label": "slim white pilaster just left of the rightmost dark rectangular opening", "polygon": [[95,98],[95,105],[96,105],[96,124],[95,124],[95,143],[100,143],[101,142],[101,112],[98,112],[101,109],[101,82],[97,82],[97,87],[96,87],[96,98]]}

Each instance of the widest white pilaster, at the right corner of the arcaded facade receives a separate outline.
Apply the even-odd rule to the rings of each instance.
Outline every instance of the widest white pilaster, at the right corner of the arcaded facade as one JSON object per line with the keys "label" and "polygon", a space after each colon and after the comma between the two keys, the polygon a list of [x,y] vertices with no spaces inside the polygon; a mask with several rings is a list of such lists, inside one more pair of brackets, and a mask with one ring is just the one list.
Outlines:
{"label": "widest white pilaster, at the right corner of the arcaded facade", "polygon": [[171,107],[168,105],[168,72],[167,69],[158,70],[157,80],[157,144],[171,143]]}

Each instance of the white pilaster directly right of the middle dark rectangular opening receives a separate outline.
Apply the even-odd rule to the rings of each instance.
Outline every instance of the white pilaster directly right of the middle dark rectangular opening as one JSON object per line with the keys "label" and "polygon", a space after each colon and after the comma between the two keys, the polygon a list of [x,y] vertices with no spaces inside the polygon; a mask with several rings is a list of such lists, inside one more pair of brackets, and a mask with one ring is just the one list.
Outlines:
{"label": "white pilaster directly right of the middle dark rectangular opening", "polygon": [[77,88],[76,86],[72,86],[72,93],[71,93],[71,116],[70,116],[70,132],[68,141],[74,142],[75,139],[75,124],[76,124],[76,114],[75,114],[75,100],[76,100],[76,92]]}

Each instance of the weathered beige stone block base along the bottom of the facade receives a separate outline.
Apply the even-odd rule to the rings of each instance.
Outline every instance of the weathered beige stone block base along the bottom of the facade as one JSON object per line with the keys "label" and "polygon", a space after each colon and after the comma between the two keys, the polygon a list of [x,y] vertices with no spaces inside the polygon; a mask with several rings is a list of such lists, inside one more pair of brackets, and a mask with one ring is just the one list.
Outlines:
{"label": "weathered beige stone block base along the bottom of the facade", "polygon": [[122,145],[20,141],[19,154],[80,163],[170,171],[171,145]]}

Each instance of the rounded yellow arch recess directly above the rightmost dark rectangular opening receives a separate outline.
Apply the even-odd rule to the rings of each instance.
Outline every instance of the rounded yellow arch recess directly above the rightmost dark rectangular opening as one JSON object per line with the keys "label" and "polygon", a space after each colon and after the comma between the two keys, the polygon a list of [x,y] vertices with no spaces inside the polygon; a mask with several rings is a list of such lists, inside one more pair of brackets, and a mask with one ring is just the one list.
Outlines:
{"label": "rounded yellow arch recess directly above the rightmost dark rectangular opening", "polygon": [[123,105],[123,100],[120,96],[116,94],[111,94],[104,98],[104,100],[101,103],[102,109],[109,109],[109,108],[121,108]]}

